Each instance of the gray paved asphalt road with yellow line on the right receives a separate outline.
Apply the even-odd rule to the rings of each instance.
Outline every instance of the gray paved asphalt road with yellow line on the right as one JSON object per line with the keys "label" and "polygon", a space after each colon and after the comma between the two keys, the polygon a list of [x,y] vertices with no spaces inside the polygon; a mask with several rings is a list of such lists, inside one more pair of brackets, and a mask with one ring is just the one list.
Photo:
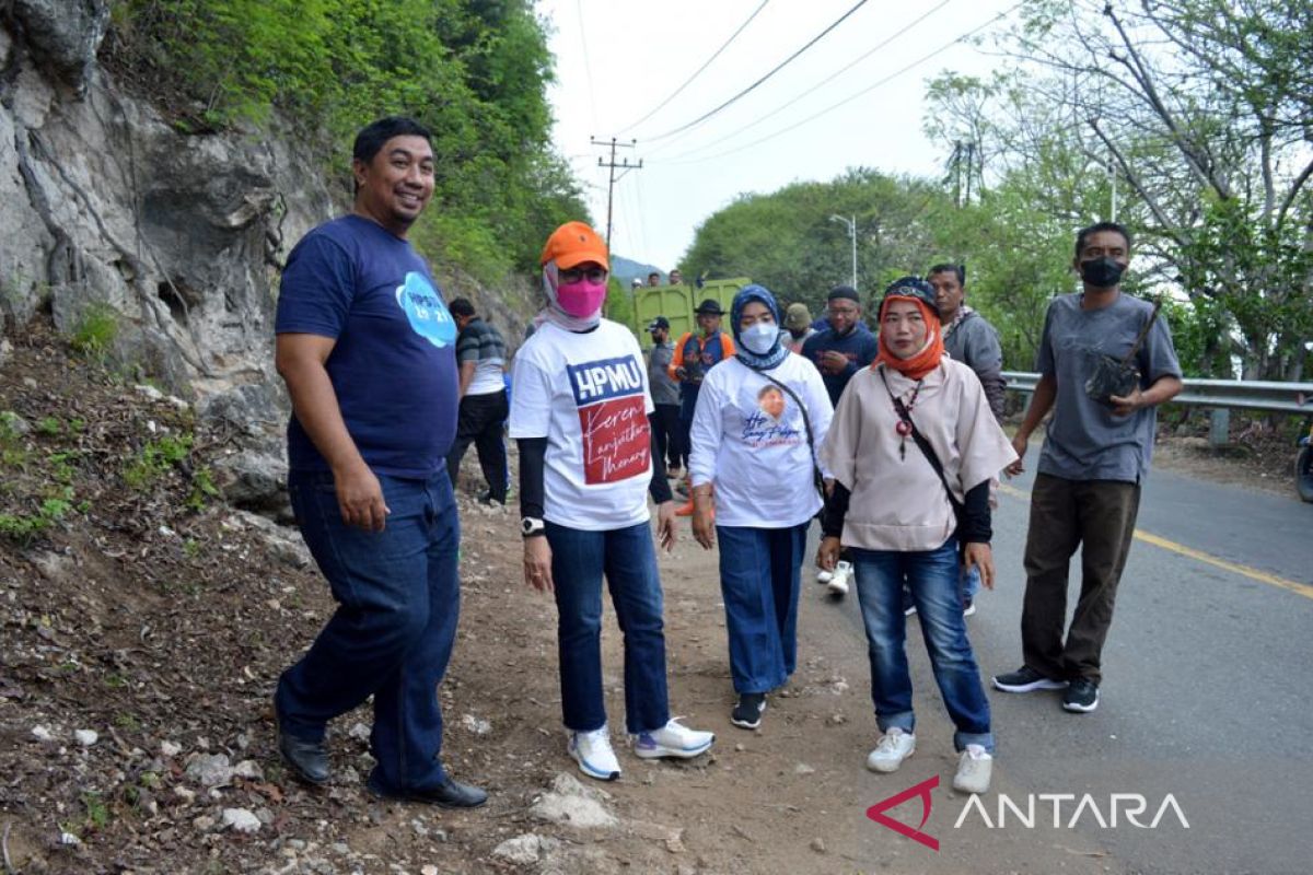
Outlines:
{"label": "gray paved asphalt road with yellow line on the right", "polygon": [[[983,594],[969,621],[986,677],[1020,664],[1029,483],[1029,474],[1018,478],[1002,496],[999,586]],[[907,842],[909,859],[919,861],[914,865],[926,871],[955,871],[953,861],[972,866],[973,859],[981,871],[1045,871],[1044,863],[1046,871],[1085,871],[1095,862],[1129,872],[1313,871],[1313,505],[1154,471],[1140,533],[1104,652],[1099,710],[1066,714],[1054,693],[990,693],[999,743],[995,791],[1023,809],[1031,794],[1071,794],[1074,800],[1060,803],[1064,825],[1053,828],[1053,802],[1037,800],[1033,829],[989,829],[973,811],[955,830],[965,803],[953,800],[945,813],[936,808],[927,826],[941,853],[918,855]],[[813,586],[809,601],[817,592]],[[821,607],[830,609],[830,622]],[[835,615],[844,622],[834,622]],[[864,656],[855,598],[811,603],[805,617],[843,630],[838,634],[852,639],[847,647]],[[919,632],[909,628],[909,635],[918,733],[947,740],[951,728]],[[865,685],[860,661],[851,677]],[[905,783],[920,777],[909,770]],[[986,799],[991,820],[997,792]],[[1141,823],[1152,821],[1171,794],[1190,828],[1170,809],[1157,829],[1124,819],[1100,828],[1088,809],[1067,828],[1085,794],[1104,820],[1111,794],[1144,796]],[[919,812],[918,803],[910,805]]]}

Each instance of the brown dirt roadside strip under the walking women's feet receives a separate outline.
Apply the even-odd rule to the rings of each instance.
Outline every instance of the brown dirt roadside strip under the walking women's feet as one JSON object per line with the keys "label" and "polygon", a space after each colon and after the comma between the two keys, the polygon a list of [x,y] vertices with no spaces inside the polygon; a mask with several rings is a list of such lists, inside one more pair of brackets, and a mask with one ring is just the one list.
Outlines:
{"label": "brown dirt roadside strip under the walking women's feet", "polygon": [[[578,830],[527,817],[525,809],[557,774],[578,775],[559,729],[555,609],[520,582],[511,517],[478,514],[475,509],[466,516],[469,584],[452,673],[458,693],[452,719],[469,708],[494,728],[478,740],[456,736],[448,756],[462,777],[488,782],[494,799],[487,812],[456,820],[475,830],[483,824],[482,838],[494,846],[533,832],[563,841],[571,851],[542,854],[525,871],[955,872],[968,866],[979,872],[1054,871],[1046,844],[1019,845],[972,824],[945,834],[952,820],[944,813],[927,826],[940,833],[937,853],[865,816],[869,805],[936,774],[935,804],[952,805],[955,813],[961,809],[961,798],[949,788],[956,766],[951,725],[915,640],[910,651],[923,708],[920,752],[910,761],[915,767],[909,763],[897,775],[864,769],[876,739],[864,639],[851,617],[810,582],[810,572],[801,600],[798,670],[788,689],[771,698],[760,729],[733,727],[717,556],[687,533],[675,552],[660,559],[671,704],[691,725],[717,733],[713,753],[687,763],[651,763],[620,748],[621,781],[584,779],[611,794],[607,804],[621,819],[616,828]],[[620,634],[608,617],[604,676],[613,725],[621,725],[624,715],[621,668]],[[1006,767],[998,781],[1007,786]],[[403,829],[399,824],[408,812],[391,811],[382,829]],[[914,826],[918,815],[915,800],[892,812]],[[1061,854],[1064,871],[1111,871],[1096,847],[1067,851]]]}

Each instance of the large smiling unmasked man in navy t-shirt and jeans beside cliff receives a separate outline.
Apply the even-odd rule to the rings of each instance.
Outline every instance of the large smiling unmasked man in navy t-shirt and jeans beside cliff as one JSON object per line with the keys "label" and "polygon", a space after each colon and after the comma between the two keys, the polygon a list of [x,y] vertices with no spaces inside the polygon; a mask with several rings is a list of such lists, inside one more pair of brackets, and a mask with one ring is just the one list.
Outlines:
{"label": "large smiling unmasked man in navy t-shirt and jeans beside cliff", "polygon": [[356,136],[351,215],[291,251],[277,367],[291,396],[288,489],[337,610],[274,694],[278,749],[328,779],[328,720],[374,697],[378,796],[445,807],[487,794],[448,777],[437,685],[460,611],[456,323],[406,240],[433,195],[429,132],[383,118]]}

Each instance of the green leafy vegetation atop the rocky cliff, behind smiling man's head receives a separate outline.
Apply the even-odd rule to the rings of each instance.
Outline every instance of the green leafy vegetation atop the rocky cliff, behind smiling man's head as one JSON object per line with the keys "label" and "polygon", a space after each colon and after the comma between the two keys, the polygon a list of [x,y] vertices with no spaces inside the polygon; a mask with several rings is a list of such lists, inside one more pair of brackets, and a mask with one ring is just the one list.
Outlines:
{"label": "green leafy vegetation atop the rocky cliff, behind smiling man's head", "polygon": [[358,127],[420,119],[439,173],[415,240],[481,279],[536,266],[551,228],[586,215],[549,144],[551,55],[530,0],[118,0],[112,21],[102,52],[180,130],[277,113],[343,186]]}

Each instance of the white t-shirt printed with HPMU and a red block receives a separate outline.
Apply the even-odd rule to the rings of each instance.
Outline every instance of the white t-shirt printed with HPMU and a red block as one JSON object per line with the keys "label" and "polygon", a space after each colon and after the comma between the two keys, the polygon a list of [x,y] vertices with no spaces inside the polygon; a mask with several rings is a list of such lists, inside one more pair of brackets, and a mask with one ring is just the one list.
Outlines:
{"label": "white t-shirt printed with HPMU and a red block", "polygon": [[583,531],[646,522],[654,408],[633,333],[607,319],[586,333],[544,323],[511,384],[511,437],[548,438],[546,519]]}

